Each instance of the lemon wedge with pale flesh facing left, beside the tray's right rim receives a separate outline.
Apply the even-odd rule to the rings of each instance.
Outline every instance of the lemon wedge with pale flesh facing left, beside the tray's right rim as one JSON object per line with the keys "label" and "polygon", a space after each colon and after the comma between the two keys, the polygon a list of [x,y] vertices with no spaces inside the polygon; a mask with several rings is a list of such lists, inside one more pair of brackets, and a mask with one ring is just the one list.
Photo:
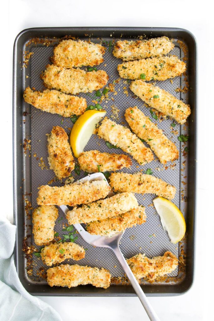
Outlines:
{"label": "lemon wedge with pale flesh facing left, beside the tray's right rim", "polygon": [[182,240],[186,231],[186,223],[179,208],[163,197],[154,198],[153,203],[171,243],[175,244]]}

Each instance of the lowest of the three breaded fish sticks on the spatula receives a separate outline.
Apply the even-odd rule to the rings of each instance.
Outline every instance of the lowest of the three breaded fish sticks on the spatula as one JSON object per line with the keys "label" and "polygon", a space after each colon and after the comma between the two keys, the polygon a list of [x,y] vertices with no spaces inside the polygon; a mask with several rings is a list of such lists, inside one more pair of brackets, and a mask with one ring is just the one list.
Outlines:
{"label": "lowest of the three breaded fish sticks on the spatula", "polygon": [[87,225],[87,231],[93,235],[112,236],[122,233],[125,229],[146,221],[145,207],[138,206],[119,216],[108,217],[105,220],[93,221]]}

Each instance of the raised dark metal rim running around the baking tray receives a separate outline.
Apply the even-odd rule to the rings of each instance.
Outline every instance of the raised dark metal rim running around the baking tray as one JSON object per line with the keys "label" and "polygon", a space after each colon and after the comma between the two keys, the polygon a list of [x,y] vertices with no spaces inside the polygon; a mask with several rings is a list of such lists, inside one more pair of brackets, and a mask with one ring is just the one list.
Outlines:
{"label": "raised dark metal rim running around the baking tray", "polygon": [[[193,142],[189,150],[189,184],[188,184],[188,214],[189,220],[188,235],[187,235],[187,251],[186,251],[186,277],[181,283],[175,285],[146,285],[142,286],[147,296],[173,296],[184,294],[188,291],[193,284],[194,276],[194,255],[195,255],[195,209],[196,209],[196,137],[197,137],[197,45],[193,34],[185,29],[180,28],[152,28],[152,27],[54,27],[54,28],[30,28],[22,30],[16,37],[13,48],[13,214],[14,223],[17,226],[16,232],[16,243],[15,243],[15,265],[19,275],[20,281],[24,288],[33,295],[48,295],[48,296],[136,296],[131,285],[111,285],[110,288],[98,289],[92,286],[81,286],[73,288],[73,291],[69,291],[67,288],[50,288],[48,285],[43,285],[43,292],[40,289],[39,284],[34,284],[30,278],[27,277],[24,266],[24,253],[22,251],[22,240],[23,240],[23,190],[20,188],[22,185],[22,129],[20,125],[20,119],[22,120],[22,108],[18,106],[18,98],[21,98],[21,93],[17,91],[18,85],[21,82],[21,68],[20,62],[23,58],[23,44],[29,38],[43,36],[53,36],[55,32],[61,33],[63,37],[69,33],[78,33],[78,35],[84,36],[85,32],[97,33],[103,32],[109,36],[109,33],[114,35],[115,33],[123,33],[128,36],[133,36],[133,32],[147,33],[147,36],[158,37],[168,36],[169,38],[183,38],[188,43],[191,43],[192,47],[189,58],[189,69],[192,69],[194,77],[190,79],[190,90],[194,88],[194,93],[191,95],[190,104],[194,106],[192,110],[191,119],[193,124],[190,122],[190,127],[193,130],[194,137],[191,141]],[[31,35],[31,33],[33,35]],[[150,33],[150,34],[149,34]],[[94,35],[96,36],[96,35]],[[100,36],[100,35],[99,35]],[[99,37],[98,36],[98,37]],[[116,36],[116,35],[115,35]],[[20,113],[21,112],[21,113]],[[21,246],[20,246],[21,244]]]}

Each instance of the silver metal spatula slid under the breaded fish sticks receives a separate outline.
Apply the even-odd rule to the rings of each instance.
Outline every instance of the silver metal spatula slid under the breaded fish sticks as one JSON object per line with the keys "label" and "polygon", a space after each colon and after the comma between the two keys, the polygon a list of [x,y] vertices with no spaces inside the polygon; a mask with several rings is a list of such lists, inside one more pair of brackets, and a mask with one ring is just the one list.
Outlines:
{"label": "silver metal spatula slid under the breaded fish sticks", "polygon": [[[79,180],[79,182],[84,181],[93,181],[93,180],[103,180],[105,179],[106,184],[108,184],[105,176],[102,173],[95,173],[91,174],[85,178],[82,178]],[[113,192],[109,192],[108,196],[114,195]],[[67,211],[69,211],[68,207],[65,205],[60,206],[61,210],[66,214]],[[132,273],[132,270],[130,269],[129,265],[127,264],[120,248],[119,248],[119,241],[122,238],[123,233],[118,233],[116,235],[113,235],[112,237],[106,237],[106,236],[99,236],[99,235],[91,235],[89,234],[81,224],[73,224],[75,229],[79,232],[81,237],[89,244],[97,247],[108,247],[110,248],[116,255],[118,261],[120,262],[122,268],[124,269],[124,272],[126,273],[129,281],[131,282],[134,291],[136,292],[138,298],[140,299],[144,309],[146,310],[146,313],[148,314],[150,320],[152,321],[158,321],[160,320],[153,310],[152,306],[150,305],[150,302],[148,301],[147,297],[145,296],[143,290],[141,289],[139,283],[135,279],[134,274]]]}

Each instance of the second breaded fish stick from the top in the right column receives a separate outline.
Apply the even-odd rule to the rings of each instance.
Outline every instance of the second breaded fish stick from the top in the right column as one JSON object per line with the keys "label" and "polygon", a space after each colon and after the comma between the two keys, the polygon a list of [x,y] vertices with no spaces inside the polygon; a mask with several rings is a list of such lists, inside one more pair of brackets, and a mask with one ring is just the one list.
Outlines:
{"label": "second breaded fish stick from the top in the right column", "polygon": [[117,70],[126,79],[166,80],[183,74],[186,64],[177,56],[162,56],[125,62]]}

